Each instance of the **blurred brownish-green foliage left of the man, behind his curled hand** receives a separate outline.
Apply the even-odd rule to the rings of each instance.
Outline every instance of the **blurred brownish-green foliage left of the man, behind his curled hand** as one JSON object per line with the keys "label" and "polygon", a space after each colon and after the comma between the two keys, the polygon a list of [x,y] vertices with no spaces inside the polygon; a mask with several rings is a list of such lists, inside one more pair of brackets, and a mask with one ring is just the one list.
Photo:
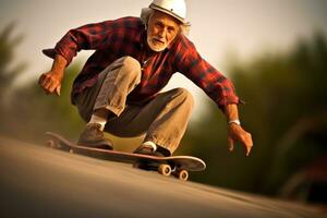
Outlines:
{"label": "blurred brownish-green foliage left of the man, behind his curled hand", "polygon": [[47,130],[71,136],[77,134],[82,121],[69,102],[70,86],[81,64],[72,64],[66,70],[60,98],[46,96],[37,86],[37,81],[27,82],[19,88],[13,87],[13,82],[25,68],[24,63],[15,61],[15,49],[23,36],[12,35],[14,26],[10,24],[0,32],[0,132],[33,142],[39,142]]}

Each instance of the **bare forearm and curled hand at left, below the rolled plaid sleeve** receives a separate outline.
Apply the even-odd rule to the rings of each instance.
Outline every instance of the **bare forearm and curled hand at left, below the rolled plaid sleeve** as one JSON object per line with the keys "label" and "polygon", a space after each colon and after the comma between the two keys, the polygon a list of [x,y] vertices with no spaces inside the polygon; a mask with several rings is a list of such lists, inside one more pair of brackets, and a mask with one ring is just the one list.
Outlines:
{"label": "bare forearm and curled hand at left, below the rolled plaid sleeve", "polygon": [[61,82],[66,64],[68,61],[62,56],[56,55],[51,70],[40,75],[38,84],[46,94],[56,93],[60,96]]}

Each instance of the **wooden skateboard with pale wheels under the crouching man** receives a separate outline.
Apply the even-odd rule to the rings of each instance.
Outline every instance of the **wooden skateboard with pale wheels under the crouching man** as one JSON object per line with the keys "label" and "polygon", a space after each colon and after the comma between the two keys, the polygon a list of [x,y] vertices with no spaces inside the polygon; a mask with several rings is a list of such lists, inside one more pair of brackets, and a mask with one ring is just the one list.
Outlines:
{"label": "wooden skateboard with pale wheels under the crouching man", "polygon": [[135,168],[158,171],[162,175],[169,177],[172,174],[183,181],[186,181],[189,179],[189,171],[203,171],[206,169],[206,164],[197,157],[156,157],[149,155],[94,148],[77,145],[57,133],[47,132],[46,134],[50,137],[46,143],[49,147],[63,149],[70,153],[87,155],[105,160],[131,164]]}

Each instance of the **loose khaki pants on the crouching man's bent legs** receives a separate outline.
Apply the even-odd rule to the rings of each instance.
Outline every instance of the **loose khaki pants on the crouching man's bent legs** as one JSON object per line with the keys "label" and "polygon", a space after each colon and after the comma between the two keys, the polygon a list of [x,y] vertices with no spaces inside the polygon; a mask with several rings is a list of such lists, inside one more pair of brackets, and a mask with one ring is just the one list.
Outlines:
{"label": "loose khaki pants on the crouching man's bent legs", "polygon": [[88,122],[94,110],[107,108],[117,117],[108,120],[106,132],[120,137],[146,133],[144,142],[152,141],[172,154],[185,133],[193,97],[186,89],[174,88],[143,105],[126,104],[126,96],[137,86],[141,75],[137,60],[118,59],[100,73],[95,86],[80,94],[78,112]]}

